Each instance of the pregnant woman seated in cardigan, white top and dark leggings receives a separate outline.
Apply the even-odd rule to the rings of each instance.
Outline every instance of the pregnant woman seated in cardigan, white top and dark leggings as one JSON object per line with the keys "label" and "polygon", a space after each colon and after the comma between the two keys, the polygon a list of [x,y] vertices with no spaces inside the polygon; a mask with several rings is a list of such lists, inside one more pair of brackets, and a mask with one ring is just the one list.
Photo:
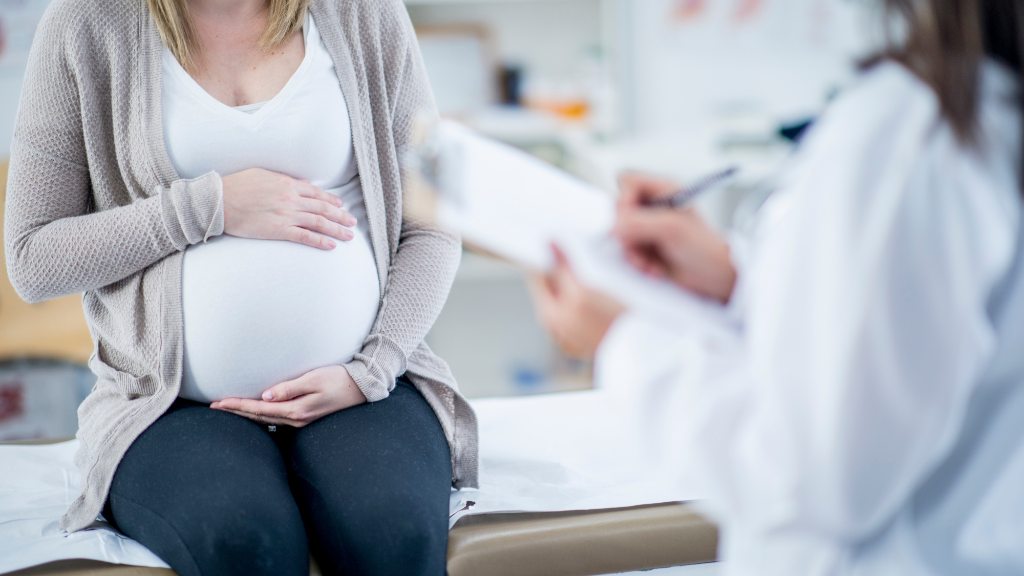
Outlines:
{"label": "pregnant woman seated in cardigan, white top and dark leggings", "polygon": [[399,0],[53,2],[5,248],[95,340],[62,529],[182,576],[444,573],[476,420],[423,338],[460,245],[398,167],[434,114]]}

